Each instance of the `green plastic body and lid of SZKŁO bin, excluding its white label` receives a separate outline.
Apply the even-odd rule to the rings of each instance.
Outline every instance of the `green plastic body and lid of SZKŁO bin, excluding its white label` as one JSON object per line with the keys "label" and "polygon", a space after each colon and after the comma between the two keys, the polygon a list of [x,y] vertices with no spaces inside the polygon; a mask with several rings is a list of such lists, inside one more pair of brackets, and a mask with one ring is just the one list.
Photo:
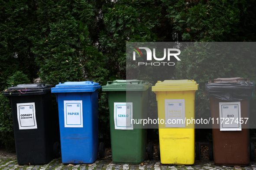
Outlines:
{"label": "green plastic body and lid of SZK\u0141O bin, excluding its white label", "polygon": [[[137,84],[138,82],[142,82],[142,84],[138,85],[142,88],[130,89],[132,87],[126,86],[126,82],[129,83],[130,81],[134,81]],[[102,87],[102,90],[107,92],[108,97],[110,111],[111,150],[113,163],[139,164],[143,162],[146,158],[147,129],[115,129],[114,103],[132,102],[133,119],[143,119],[147,114],[146,108],[149,87],[151,87],[151,85],[149,85],[148,82],[137,80],[116,80],[113,82],[108,82],[106,86]],[[133,125],[133,127],[135,127],[135,125]]]}

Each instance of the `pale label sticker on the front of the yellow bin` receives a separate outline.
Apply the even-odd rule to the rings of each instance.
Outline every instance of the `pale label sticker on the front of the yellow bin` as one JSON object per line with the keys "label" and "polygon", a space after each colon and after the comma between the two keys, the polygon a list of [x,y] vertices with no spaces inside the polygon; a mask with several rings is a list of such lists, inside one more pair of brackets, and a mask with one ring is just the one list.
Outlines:
{"label": "pale label sticker on the front of the yellow bin", "polygon": [[185,127],[185,99],[165,99],[165,127]]}

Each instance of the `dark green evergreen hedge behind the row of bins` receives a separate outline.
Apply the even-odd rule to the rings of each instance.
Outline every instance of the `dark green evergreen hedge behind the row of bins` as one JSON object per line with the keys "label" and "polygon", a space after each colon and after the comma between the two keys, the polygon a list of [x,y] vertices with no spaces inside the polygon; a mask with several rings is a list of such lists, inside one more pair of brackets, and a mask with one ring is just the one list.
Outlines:
{"label": "dark green evergreen hedge behind the row of bins", "polygon": [[[126,66],[126,42],[251,42],[256,41],[255,24],[253,0],[0,0],[0,91],[35,79],[52,85],[85,80],[106,85],[126,79],[126,70],[141,71]],[[188,48],[181,62],[168,70],[168,79],[199,83],[197,115],[210,114],[204,93],[209,79],[241,76],[256,81],[254,54],[235,58],[236,51],[221,55],[220,49],[229,51],[225,45],[213,49],[217,52],[210,56]],[[146,69],[138,79],[153,85],[166,79],[166,73],[153,73]],[[0,94],[0,136],[12,150],[8,102]],[[149,103],[149,112],[156,112],[154,93]],[[250,106],[255,113],[256,107]],[[99,90],[100,141],[110,144],[109,133],[107,96]]]}

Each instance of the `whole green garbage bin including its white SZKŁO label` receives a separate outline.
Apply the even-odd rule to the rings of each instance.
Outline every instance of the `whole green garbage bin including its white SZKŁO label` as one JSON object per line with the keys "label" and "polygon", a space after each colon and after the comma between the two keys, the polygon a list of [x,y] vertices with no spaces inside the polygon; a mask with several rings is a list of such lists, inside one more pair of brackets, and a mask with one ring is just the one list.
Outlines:
{"label": "whole green garbage bin including its white SZK\u0141O label", "polygon": [[[146,158],[147,129],[137,129],[143,125],[135,124],[132,119],[146,116],[151,86],[141,80],[115,80],[102,86],[108,98],[113,163],[139,164]],[[152,144],[148,152],[152,157]]]}

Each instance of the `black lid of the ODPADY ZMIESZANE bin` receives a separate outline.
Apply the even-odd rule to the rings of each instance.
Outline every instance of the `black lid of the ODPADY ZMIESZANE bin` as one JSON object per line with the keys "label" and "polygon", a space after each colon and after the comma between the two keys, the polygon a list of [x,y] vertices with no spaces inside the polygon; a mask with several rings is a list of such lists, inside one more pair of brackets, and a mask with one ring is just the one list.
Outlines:
{"label": "black lid of the ODPADY ZMIESZANE bin", "polygon": [[7,91],[3,91],[4,96],[23,96],[23,95],[38,95],[46,94],[51,91],[53,85],[45,85],[43,83],[37,84],[20,84],[7,88]]}

